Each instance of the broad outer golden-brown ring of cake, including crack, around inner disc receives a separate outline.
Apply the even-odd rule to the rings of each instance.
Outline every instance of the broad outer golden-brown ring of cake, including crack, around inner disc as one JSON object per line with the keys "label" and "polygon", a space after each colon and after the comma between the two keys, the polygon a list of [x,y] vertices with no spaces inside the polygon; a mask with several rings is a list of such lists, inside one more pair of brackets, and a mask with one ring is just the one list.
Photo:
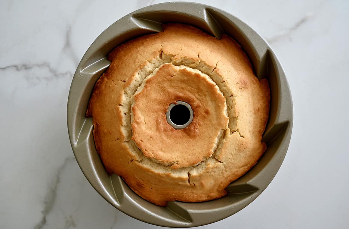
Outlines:
{"label": "broad outer golden-brown ring of cake, including crack, around inner disc", "polygon": [[[108,58],[112,63],[94,87],[87,116],[93,117],[94,140],[106,170],[121,176],[144,199],[164,206],[167,201],[220,198],[266,150],[261,138],[269,113],[268,82],[258,81],[232,38],[217,40],[191,26],[166,24],[163,32],[122,44]],[[198,165],[172,169],[159,164],[131,139],[131,97],[166,63],[207,74],[227,104],[228,127],[214,153]]]}

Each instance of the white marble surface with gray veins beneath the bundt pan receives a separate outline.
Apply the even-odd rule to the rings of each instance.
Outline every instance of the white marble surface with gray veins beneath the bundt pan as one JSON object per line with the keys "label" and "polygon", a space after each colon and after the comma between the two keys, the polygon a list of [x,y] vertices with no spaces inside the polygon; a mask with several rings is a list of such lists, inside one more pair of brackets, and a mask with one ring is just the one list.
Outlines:
{"label": "white marble surface with gray veins beneath the bundt pan", "polygon": [[[201,1],[265,37],[287,74],[287,156],[249,206],[201,228],[349,227],[349,2]],[[159,1],[0,1],[0,228],[159,228],[113,208],[77,165],[66,126],[80,58],[120,17]]]}

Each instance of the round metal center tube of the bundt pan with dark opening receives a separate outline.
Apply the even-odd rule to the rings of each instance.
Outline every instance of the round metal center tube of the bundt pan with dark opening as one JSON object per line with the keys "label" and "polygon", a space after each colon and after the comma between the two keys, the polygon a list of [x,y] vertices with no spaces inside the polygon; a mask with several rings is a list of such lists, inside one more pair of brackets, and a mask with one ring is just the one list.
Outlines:
{"label": "round metal center tube of the bundt pan with dark opening", "polygon": [[184,129],[193,121],[193,110],[189,103],[177,101],[169,106],[166,118],[174,129]]}

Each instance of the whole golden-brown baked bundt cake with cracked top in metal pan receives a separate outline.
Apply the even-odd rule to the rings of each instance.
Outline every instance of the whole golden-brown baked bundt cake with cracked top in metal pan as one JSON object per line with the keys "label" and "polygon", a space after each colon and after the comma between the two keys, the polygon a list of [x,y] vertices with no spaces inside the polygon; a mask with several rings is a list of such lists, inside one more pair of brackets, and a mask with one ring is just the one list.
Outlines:
{"label": "whole golden-brown baked bundt cake with cracked top in metal pan", "polygon": [[[128,41],[109,55],[87,116],[106,171],[142,198],[200,202],[221,198],[266,150],[270,91],[229,36],[184,24]],[[171,104],[188,103],[192,122],[174,129]]]}

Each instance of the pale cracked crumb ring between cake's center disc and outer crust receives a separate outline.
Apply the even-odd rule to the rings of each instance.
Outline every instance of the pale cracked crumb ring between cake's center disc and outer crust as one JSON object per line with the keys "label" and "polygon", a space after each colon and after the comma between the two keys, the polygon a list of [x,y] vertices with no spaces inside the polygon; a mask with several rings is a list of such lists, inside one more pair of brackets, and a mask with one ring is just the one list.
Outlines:
{"label": "pale cracked crumb ring between cake's center disc and outer crust", "polygon": [[[235,113],[235,97],[233,96],[232,90],[227,85],[227,80],[224,80],[221,74],[216,71],[218,62],[216,64],[210,65],[201,58],[191,59],[186,57],[177,57],[176,55],[172,55],[171,53],[163,52],[162,49],[158,50],[157,52],[158,56],[153,59],[149,59],[147,63],[141,65],[140,69],[133,74],[133,76],[127,81],[124,87],[122,102],[119,104],[121,113],[125,114],[122,115],[121,119],[121,131],[124,135],[122,141],[128,146],[128,149],[130,150],[129,152],[133,155],[133,157],[137,158],[138,161],[146,164],[146,166],[156,166],[158,169],[161,169],[165,173],[169,173],[172,171],[172,169],[176,168],[176,164],[161,163],[156,159],[144,156],[143,152],[135,145],[134,141],[131,139],[132,130],[130,127],[133,119],[133,114],[131,112],[131,105],[133,101],[131,101],[131,98],[135,94],[136,90],[141,86],[143,80],[147,76],[152,74],[162,64],[171,63],[175,66],[188,66],[191,69],[198,70],[204,74],[207,74],[207,76],[209,76],[220,88],[220,91],[224,95],[229,117],[228,129],[224,131],[223,135],[219,139],[217,148],[214,153],[208,158],[202,158],[202,161],[198,164],[203,165],[212,162],[221,163],[218,159],[216,159],[217,153],[221,150],[221,143],[224,142],[224,139],[228,135],[237,131],[237,116]],[[210,158],[213,160],[209,160]],[[188,171],[192,170],[192,167],[196,166],[193,165],[189,167],[179,168],[177,169],[177,171],[180,173],[187,173]]]}

